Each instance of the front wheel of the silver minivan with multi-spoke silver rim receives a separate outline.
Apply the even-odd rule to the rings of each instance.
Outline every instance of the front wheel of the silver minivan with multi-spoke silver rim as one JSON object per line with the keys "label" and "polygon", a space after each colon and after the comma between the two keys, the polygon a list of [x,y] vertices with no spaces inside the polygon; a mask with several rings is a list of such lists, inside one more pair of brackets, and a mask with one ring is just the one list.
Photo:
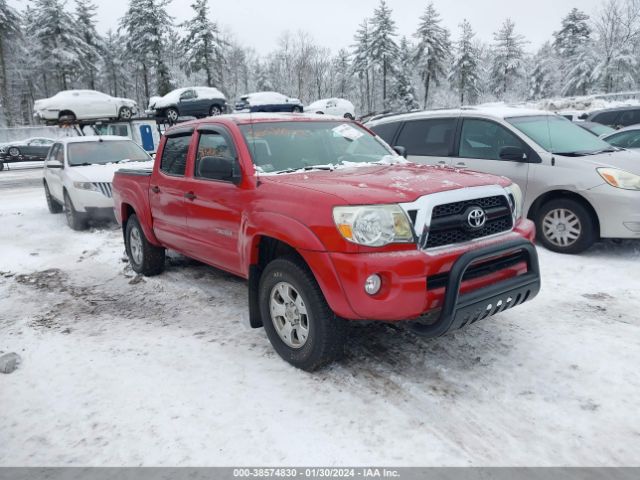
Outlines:
{"label": "front wheel of the silver minivan with multi-spoke silver rim", "polygon": [[[537,240],[553,252],[581,253],[598,239],[591,212],[575,200],[560,198],[546,202],[538,210],[535,222]],[[555,223],[559,224],[557,228],[554,227]],[[563,241],[567,228],[575,229],[573,231],[578,233],[573,233],[572,238]]]}

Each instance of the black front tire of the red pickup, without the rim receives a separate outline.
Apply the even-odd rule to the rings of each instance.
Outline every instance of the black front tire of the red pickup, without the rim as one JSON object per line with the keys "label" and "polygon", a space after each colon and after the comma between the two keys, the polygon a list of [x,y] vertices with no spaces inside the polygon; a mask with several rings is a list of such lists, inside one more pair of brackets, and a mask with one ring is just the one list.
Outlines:
{"label": "black front tire of the red pickup, without the rim", "polygon": [[[278,334],[271,316],[272,290],[280,283],[291,285],[302,299],[307,314],[308,336],[298,348],[287,345]],[[274,290],[275,291],[275,290]],[[265,268],[258,290],[260,315],[267,336],[284,360],[311,372],[337,360],[344,351],[347,323],[336,317],[309,268],[296,257],[281,257]]]}

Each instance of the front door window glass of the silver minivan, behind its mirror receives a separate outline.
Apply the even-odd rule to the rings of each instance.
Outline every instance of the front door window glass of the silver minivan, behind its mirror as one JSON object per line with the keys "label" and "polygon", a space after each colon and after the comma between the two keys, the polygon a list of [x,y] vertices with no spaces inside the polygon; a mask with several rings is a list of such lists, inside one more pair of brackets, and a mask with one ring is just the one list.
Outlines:
{"label": "front door window glass of the silver minivan, behind its mirror", "polygon": [[500,151],[504,147],[526,150],[524,143],[502,125],[477,118],[462,122],[459,157],[501,160]]}

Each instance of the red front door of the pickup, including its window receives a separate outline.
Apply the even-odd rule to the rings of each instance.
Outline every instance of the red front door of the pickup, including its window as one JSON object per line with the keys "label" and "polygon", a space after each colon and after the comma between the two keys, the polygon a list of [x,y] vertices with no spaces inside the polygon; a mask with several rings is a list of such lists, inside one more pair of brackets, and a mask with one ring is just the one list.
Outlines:
{"label": "red front door of the pickup, including its window", "polygon": [[191,253],[207,263],[241,274],[238,242],[248,193],[228,179],[215,178],[199,168],[204,157],[221,157],[233,162],[240,172],[235,146],[230,133],[222,126],[200,127],[197,135],[190,195],[185,201],[194,249]]}

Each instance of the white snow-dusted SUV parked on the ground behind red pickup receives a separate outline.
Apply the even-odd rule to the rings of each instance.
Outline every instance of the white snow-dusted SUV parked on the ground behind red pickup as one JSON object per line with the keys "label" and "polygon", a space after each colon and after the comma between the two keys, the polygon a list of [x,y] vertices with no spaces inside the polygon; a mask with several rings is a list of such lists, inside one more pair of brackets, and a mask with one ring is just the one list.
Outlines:
{"label": "white snow-dusted SUV parked on the ground behind red pickup", "polygon": [[147,152],[125,137],[57,140],[43,169],[49,211],[64,211],[67,223],[74,230],[84,230],[91,219],[113,219],[111,184],[116,170],[124,163],[128,168],[153,165]]}

